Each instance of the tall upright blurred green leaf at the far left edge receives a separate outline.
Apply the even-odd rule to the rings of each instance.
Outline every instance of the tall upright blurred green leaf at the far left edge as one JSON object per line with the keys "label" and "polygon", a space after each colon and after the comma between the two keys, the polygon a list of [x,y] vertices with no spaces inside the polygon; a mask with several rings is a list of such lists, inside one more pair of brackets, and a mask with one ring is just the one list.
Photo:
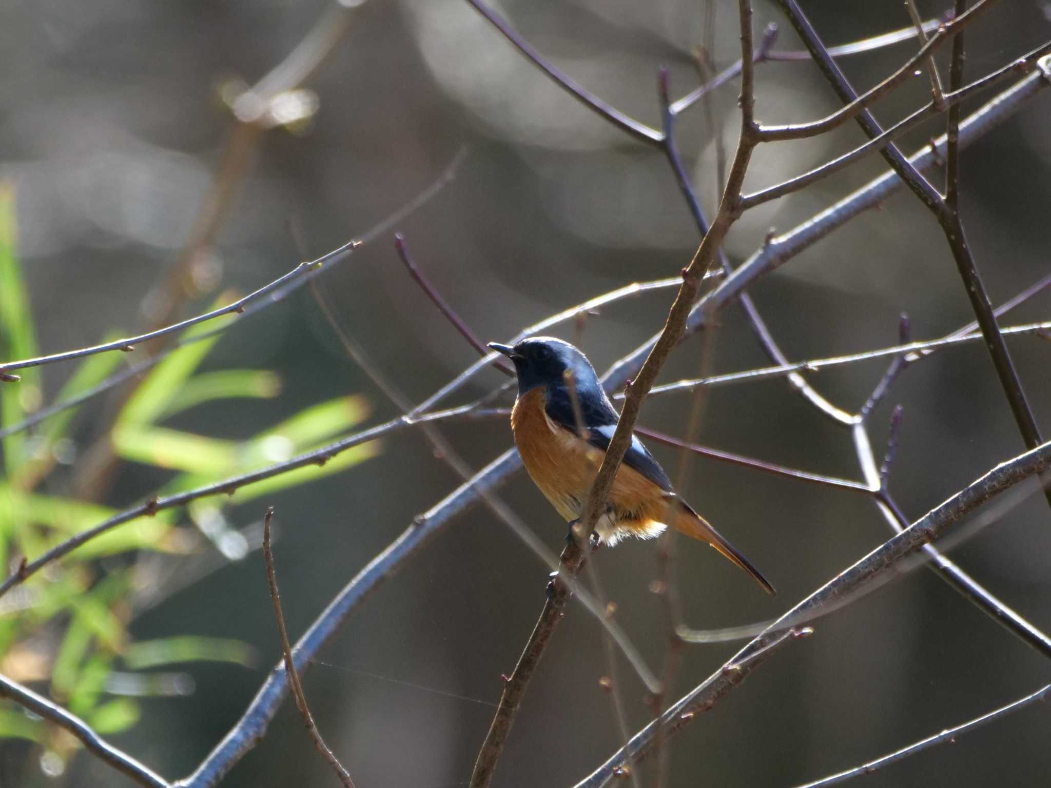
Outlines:
{"label": "tall upright blurred green leaf at the far left edge", "polygon": [[[6,360],[37,355],[29,293],[18,262],[15,189],[0,182],[0,368]],[[0,382],[0,422],[14,424],[40,406],[40,370],[18,371],[19,382]],[[25,435],[3,439],[4,469],[12,475],[24,458]]]}

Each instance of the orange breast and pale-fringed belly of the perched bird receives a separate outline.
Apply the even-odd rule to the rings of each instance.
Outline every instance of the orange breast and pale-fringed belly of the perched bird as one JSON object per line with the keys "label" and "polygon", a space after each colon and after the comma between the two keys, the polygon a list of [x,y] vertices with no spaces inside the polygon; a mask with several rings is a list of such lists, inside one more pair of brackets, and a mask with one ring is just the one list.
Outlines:
{"label": "orange breast and pale-fringed belly of the perched bird", "polygon": [[[580,516],[604,452],[551,420],[543,410],[544,391],[534,389],[518,397],[511,412],[511,429],[526,470],[566,520]],[[621,465],[610,493],[611,511],[596,525],[603,541],[633,535],[657,536],[664,530],[667,499],[642,474]]]}

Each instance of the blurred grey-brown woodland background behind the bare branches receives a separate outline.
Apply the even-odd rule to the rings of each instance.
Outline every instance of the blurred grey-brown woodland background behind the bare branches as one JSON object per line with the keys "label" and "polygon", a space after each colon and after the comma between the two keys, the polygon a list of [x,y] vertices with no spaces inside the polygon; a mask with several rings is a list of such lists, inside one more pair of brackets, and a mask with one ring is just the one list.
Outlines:
{"label": "blurred grey-brown woodland background behind the bare branches", "polygon": [[[803,5],[829,44],[909,23],[901,3]],[[951,4],[919,5],[924,18],[932,18]],[[494,7],[588,89],[653,126],[659,126],[661,65],[671,69],[678,97],[699,82],[698,46],[708,46],[717,69],[738,57],[736,3],[724,0],[503,0]],[[407,276],[393,249],[394,230],[405,233],[417,265],[486,340],[504,340],[592,295],[673,276],[687,264],[698,232],[661,152],[566,97],[462,0],[365,3],[349,15],[345,35],[304,90],[287,97],[287,116],[267,129],[239,125],[235,112],[244,118],[251,110],[236,101],[245,86],[282,63],[320,19],[342,13],[323,2],[276,0],[0,5],[0,179],[14,195],[17,257],[40,352],[96,343],[112,331],[137,333],[205,311],[221,293],[249,292],[297,261],[363,235],[454,161],[455,177],[445,188],[317,279],[344,330],[413,401],[475,354]],[[1046,41],[1049,14],[1043,0],[1015,0],[986,15],[967,34],[968,79]],[[757,30],[767,22],[782,27],[778,48],[800,48],[778,12],[757,2]],[[864,88],[913,47],[905,43],[841,64]],[[687,168],[709,211],[717,194],[715,140],[721,137],[733,151],[737,91],[731,82],[678,124]],[[925,77],[913,80],[875,113],[889,125],[926,101],[928,91]],[[763,122],[811,120],[837,106],[808,62],[757,70]],[[965,113],[976,106],[968,104]],[[941,126],[935,121],[906,137],[903,150],[914,150]],[[1048,270],[1049,127],[1051,103],[1039,94],[963,155],[964,219],[994,303]],[[819,140],[765,146],[747,184],[776,183],[862,141],[848,124]],[[749,212],[727,241],[731,261],[757,249],[770,227],[790,229],[884,168],[879,157],[869,157]],[[940,336],[972,319],[942,231],[909,193],[858,216],[750,292],[794,360],[892,345],[903,311],[915,338]],[[671,297],[662,290],[623,300],[554,333],[580,344],[601,371],[661,327]],[[1051,296],[1039,295],[1004,323],[1046,319],[1049,309]],[[1032,337],[1010,346],[1037,420],[1051,430],[1048,346]],[[723,314],[713,347],[714,371],[768,362],[737,308]],[[662,379],[697,375],[701,352],[698,339],[684,345]],[[137,360],[136,354],[116,355],[111,370]],[[347,402],[338,398],[350,395],[353,414],[336,419],[329,433],[398,415],[347,357],[309,289],[229,328],[199,364],[194,374],[268,371],[269,383],[261,382],[251,398],[157,411],[164,429],[214,441],[208,451],[219,441],[240,445],[311,406]],[[884,360],[851,365],[822,372],[815,382],[852,411],[884,368]],[[28,393],[18,407],[29,413],[51,402],[75,369],[55,365],[39,378],[27,375]],[[456,401],[503,380],[486,371]],[[154,378],[158,387],[163,381]],[[187,474],[204,473],[157,456],[160,449],[151,454],[153,444],[144,449],[133,439],[140,433],[122,439],[110,433],[115,419],[121,422],[117,414],[126,413],[130,391],[118,389],[77,413],[53,447],[38,493],[119,510],[172,483],[176,474],[185,481]],[[688,395],[652,399],[641,423],[682,436],[692,401]],[[905,410],[891,490],[911,518],[1024,451],[980,343],[908,369],[872,417],[878,443],[897,402]],[[474,468],[511,438],[503,418],[440,429]],[[860,478],[849,434],[783,380],[713,389],[699,440]],[[272,441],[268,445],[273,449]],[[30,438],[16,449],[34,447],[40,444]],[[652,448],[675,478],[678,453]],[[21,456],[6,454],[8,477]],[[202,463],[210,456],[205,449],[190,452]],[[265,456],[284,455],[279,447]],[[171,661],[162,670],[165,686],[143,679],[149,670],[129,671],[125,663],[120,676],[137,677],[130,688],[122,696],[110,676],[96,699],[141,696],[127,724],[112,725],[115,744],[167,777],[187,774],[236,722],[279,658],[257,549],[266,505],[276,507],[279,581],[290,634],[298,637],[372,556],[459,483],[412,431],[370,444],[352,464],[254,498],[239,493],[212,506],[174,512],[166,538],[182,540],[177,545],[78,566],[75,594],[98,588],[111,573],[132,567],[136,575],[120,604],[103,600],[120,637],[107,644],[87,636],[91,645],[84,646],[82,662],[73,660],[70,687],[86,681],[85,666],[100,654],[111,665],[102,672],[121,668],[121,651],[135,643],[193,636],[244,646],[230,659]],[[685,622],[695,627],[771,618],[888,535],[864,496],[708,459],[693,459],[682,493],[780,592],[766,598],[710,551],[679,544],[679,595]],[[552,551],[561,548],[564,523],[524,474],[500,495]],[[1046,630],[1049,524],[1043,497],[1030,496],[951,551],[980,582]],[[664,608],[647,590],[659,574],[656,544],[626,543],[600,553],[596,564],[618,620],[647,663],[662,665]],[[359,788],[467,784],[499,699],[500,675],[514,667],[543,604],[547,574],[489,510],[476,505],[343,627],[304,684],[318,727]],[[45,582],[58,581],[53,574]],[[48,682],[76,611],[36,623],[24,610],[4,615],[8,622],[22,617],[3,641],[4,672],[67,698]],[[698,684],[738,646],[687,647],[672,694]],[[26,654],[35,660],[30,668],[16,659]],[[645,690],[624,664],[618,672],[634,731],[650,716]],[[618,726],[598,681],[605,673],[601,631],[571,604],[529,689],[496,785],[572,785],[617,748]],[[677,734],[667,784],[815,780],[1033,691],[1048,675],[1045,658],[930,572],[916,569],[817,622],[813,637],[772,657]],[[4,786],[130,785],[68,742],[63,749],[61,740],[39,731],[17,738],[12,731],[18,725],[4,725],[12,737],[0,741]],[[956,746],[869,775],[867,783],[1036,784],[1051,768],[1049,733],[1051,719],[1037,706]],[[648,780],[651,772],[643,773]],[[286,703],[263,743],[224,785],[291,780],[335,784]]]}

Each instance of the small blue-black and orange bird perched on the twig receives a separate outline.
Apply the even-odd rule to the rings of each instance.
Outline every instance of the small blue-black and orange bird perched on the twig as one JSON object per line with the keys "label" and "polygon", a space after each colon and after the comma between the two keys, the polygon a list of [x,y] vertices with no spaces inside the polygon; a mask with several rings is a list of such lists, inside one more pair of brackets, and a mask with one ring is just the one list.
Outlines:
{"label": "small blue-black and orange bird perched on the twig", "polygon": [[[514,347],[490,343],[515,365],[518,398],[511,429],[526,470],[569,521],[580,517],[619,418],[591,362],[575,347],[545,336]],[[675,494],[667,474],[634,435],[617,470],[606,512],[595,525],[601,542],[652,539],[666,524],[707,542],[747,572],[768,594],[774,587],[741,553]]]}

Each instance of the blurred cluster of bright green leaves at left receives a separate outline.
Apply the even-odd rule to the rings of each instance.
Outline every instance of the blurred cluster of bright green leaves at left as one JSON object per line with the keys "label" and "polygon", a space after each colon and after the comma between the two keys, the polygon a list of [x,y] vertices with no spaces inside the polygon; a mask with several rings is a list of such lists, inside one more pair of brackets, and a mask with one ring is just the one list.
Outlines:
{"label": "blurred cluster of bright green leaves at left", "polygon": [[[224,294],[222,303],[235,297]],[[17,254],[14,189],[0,189],[0,358],[37,355],[34,315]],[[229,318],[201,324],[184,335],[211,333]],[[111,334],[107,338],[114,338]],[[281,381],[268,370],[199,371],[220,334],[188,344],[156,365],[120,400],[106,440],[120,460],[168,472],[159,494],[185,491],[289,459],[351,429],[369,412],[364,398],[341,397],[304,408],[247,440],[187,432],[167,422],[195,408],[221,400],[277,396]],[[76,397],[117,371],[120,353],[82,359],[57,394]],[[11,426],[41,406],[44,368],[20,371],[21,380],[0,385],[3,424]],[[62,491],[71,486],[70,437],[78,411],[49,416],[35,428],[3,439],[0,477],[0,565],[17,569],[22,557],[36,558],[68,537],[106,520],[117,511]],[[140,557],[168,554],[187,561],[207,552],[224,560],[244,558],[249,543],[227,520],[227,510],[260,495],[302,484],[358,463],[376,452],[366,443],[324,466],[310,466],[246,486],[234,498],[199,500],[183,513],[164,510],[91,539],[61,564],[29,578],[0,600],[0,670],[17,681],[46,685],[46,693],[84,719],[97,732],[114,734],[138,722],[142,698],[187,694],[187,672],[157,668],[194,662],[256,664],[251,647],[227,638],[174,635],[136,642],[129,625],[154,587]],[[174,472],[173,474],[170,472]],[[201,535],[207,537],[202,539]],[[210,541],[209,541],[210,540]],[[212,543],[213,542],[213,543]],[[179,558],[183,556],[183,558]],[[62,763],[79,744],[61,729],[14,705],[0,706],[0,739],[41,744],[47,758]],[[57,761],[56,761],[57,759]]]}

